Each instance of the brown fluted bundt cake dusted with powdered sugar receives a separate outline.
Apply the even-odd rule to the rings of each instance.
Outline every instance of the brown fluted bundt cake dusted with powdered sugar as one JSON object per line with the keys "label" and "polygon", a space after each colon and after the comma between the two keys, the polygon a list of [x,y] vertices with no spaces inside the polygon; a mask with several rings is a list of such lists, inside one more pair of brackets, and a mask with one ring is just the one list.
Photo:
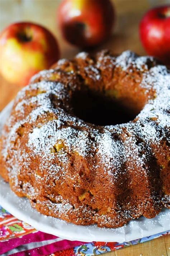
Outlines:
{"label": "brown fluted bundt cake dusted with powdered sugar", "polygon": [[170,74],[103,50],[61,59],[14,101],[0,174],[37,211],[116,228],[170,202]]}

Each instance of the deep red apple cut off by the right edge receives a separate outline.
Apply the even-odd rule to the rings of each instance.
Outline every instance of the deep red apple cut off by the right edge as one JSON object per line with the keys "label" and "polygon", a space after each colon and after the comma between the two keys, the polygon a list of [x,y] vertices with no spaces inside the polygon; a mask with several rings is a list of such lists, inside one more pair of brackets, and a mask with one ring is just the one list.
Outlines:
{"label": "deep red apple cut off by the right edge", "polygon": [[144,15],[140,37],[148,54],[170,64],[170,5],[156,7]]}

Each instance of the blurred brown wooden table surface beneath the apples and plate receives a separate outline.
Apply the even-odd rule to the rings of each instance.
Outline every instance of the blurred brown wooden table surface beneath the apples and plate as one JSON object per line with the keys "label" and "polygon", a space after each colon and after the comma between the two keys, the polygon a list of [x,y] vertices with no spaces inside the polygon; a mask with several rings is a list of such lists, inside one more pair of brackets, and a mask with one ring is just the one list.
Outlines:
{"label": "blurred brown wooden table surface beneath the apples and plate", "polygon": [[[80,0],[81,1],[81,0]],[[123,50],[133,50],[146,54],[138,36],[138,24],[149,8],[170,3],[170,0],[114,0],[117,21],[113,36],[95,50],[111,49],[119,54]],[[0,30],[12,22],[32,21],[49,28],[57,37],[62,58],[72,58],[80,50],[63,41],[56,25],[56,9],[60,0],[0,0]],[[0,110],[14,98],[20,87],[9,84],[0,77]],[[170,256],[170,236],[150,242],[129,246],[106,256]]]}

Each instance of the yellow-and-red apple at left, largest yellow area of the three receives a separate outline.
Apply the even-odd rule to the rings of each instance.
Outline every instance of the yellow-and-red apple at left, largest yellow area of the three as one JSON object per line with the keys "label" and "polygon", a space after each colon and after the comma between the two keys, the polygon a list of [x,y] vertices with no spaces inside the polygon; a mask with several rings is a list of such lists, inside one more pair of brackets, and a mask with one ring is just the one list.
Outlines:
{"label": "yellow-and-red apple at left, largest yellow area of the three", "polygon": [[59,57],[55,37],[38,24],[14,23],[0,34],[0,72],[16,85],[28,84],[30,77]]}

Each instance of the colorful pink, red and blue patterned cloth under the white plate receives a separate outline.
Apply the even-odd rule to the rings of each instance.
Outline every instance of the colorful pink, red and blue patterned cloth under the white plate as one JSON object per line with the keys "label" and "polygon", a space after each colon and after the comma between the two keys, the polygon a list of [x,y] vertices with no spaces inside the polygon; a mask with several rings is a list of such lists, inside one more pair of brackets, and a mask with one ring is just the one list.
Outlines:
{"label": "colorful pink, red and blue patterned cloth under the white plate", "polygon": [[3,256],[94,256],[166,234],[170,234],[170,230],[124,243],[69,241],[37,231],[0,206],[0,255]]}

